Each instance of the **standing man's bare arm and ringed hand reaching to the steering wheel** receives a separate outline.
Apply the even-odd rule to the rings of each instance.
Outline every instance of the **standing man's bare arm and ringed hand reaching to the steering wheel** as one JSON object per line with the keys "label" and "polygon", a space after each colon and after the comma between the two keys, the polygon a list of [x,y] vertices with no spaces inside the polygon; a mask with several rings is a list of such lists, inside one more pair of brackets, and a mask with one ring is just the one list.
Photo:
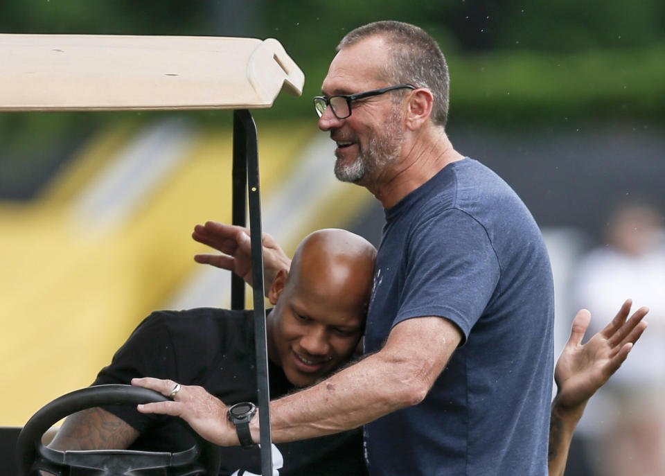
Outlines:
{"label": "standing man's bare arm and ringed hand reaching to the steering wheel", "polygon": [[[461,332],[441,317],[418,317],[397,324],[384,348],[334,376],[270,405],[275,443],[341,432],[397,409],[416,405],[443,371],[461,341]],[[162,394],[170,380],[143,378],[132,385]],[[202,437],[222,446],[238,445],[227,406],[201,387],[182,387],[176,401],[139,405],[145,413],[180,416]],[[258,416],[250,424],[259,440]]]}

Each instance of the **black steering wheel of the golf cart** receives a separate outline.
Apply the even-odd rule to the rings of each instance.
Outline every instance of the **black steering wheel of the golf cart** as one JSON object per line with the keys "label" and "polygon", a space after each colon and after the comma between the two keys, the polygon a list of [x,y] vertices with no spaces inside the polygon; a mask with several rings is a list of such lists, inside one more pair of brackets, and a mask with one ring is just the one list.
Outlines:
{"label": "black steering wheel of the golf cart", "polygon": [[181,452],[148,452],[132,450],[58,451],[42,444],[42,435],[54,423],[79,410],[102,405],[138,405],[168,400],[157,391],[132,385],[97,385],[75,390],[56,398],[39,409],[21,430],[16,455],[19,476],[39,475],[46,470],[58,476],[76,474],[94,476],[140,476],[147,472],[168,476],[217,476],[220,470],[220,448],[199,437],[195,444]]}

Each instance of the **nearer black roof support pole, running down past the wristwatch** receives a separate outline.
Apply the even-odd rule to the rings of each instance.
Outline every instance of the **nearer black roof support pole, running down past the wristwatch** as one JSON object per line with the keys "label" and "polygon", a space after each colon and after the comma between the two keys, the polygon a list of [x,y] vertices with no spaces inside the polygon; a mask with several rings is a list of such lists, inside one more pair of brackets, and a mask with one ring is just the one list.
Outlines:
{"label": "nearer black roof support pole, running down past the wristwatch", "polygon": [[[272,476],[272,437],[270,432],[270,391],[268,350],[265,326],[265,288],[263,285],[263,247],[261,240],[261,201],[258,177],[258,137],[256,124],[247,109],[233,112],[235,125],[245,131],[247,185],[249,188],[249,230],[251,233],[251,276],[254,281],[254,333],[256,341],[256,387],[261,444],[261,474]],[[235,132],[234,132],[235,136]]]}

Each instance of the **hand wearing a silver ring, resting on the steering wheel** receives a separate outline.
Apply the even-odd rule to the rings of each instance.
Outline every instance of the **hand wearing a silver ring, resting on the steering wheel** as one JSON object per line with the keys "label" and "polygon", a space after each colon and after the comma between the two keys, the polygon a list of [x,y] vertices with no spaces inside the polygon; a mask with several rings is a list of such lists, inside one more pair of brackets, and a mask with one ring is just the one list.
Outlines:
{"label": "hand wearing a silver ring, resting on the steering wheel", "polygon": [[[176,383],[158,378],[132,378],[132,385],[159,391],[169,396]],[[227,418],[227,405],[203,387],[182,385],[173,401],[146,403],[136,407],[141,413],[179,416],[206,440],[220,446],[238,446],[236,427]]]}

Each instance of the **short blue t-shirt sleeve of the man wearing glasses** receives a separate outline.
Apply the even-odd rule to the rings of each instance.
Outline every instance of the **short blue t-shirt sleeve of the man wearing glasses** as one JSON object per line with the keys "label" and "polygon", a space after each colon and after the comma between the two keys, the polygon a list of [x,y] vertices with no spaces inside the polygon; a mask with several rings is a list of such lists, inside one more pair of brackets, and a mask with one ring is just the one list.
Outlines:
{"label": "short blue t-shirt sleeve of the man wearing glasses", "polygon": [[407,242],[402,303],[393,326],[412,317],[454,322],[463,342],[499,281],[499,262],[486,229],[459,209],[423,220]]}

